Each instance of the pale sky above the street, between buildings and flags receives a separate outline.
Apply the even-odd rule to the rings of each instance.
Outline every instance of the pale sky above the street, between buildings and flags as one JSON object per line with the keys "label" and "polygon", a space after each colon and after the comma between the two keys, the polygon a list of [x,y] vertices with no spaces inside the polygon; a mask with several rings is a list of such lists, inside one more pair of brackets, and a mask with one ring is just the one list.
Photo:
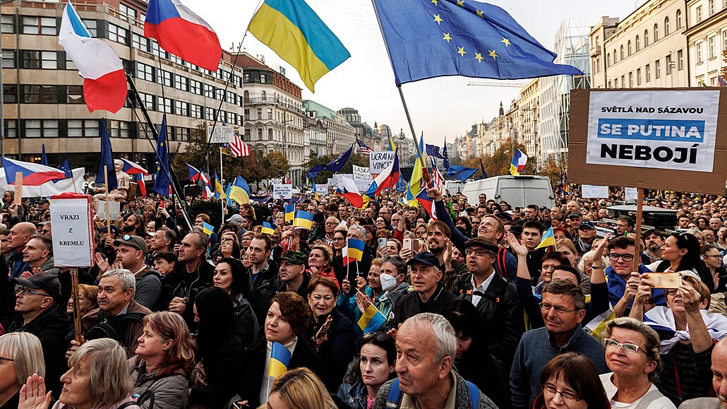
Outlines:
{"label": "pale sky above the street, between buildings and flags", "polygon": [[[387,124],[394,132],[406,121],[394,74],[374,15],[371,0],[306,0],[321,20],[331,28],[351,57],[316,83],[316,94],[305,87],[297,71],[245,28],[258,6],[258,0],[185,0],[184,4],[204,18],[217,32],[223,49],[243,48],[253,56],[264,55],[272,68],[286,68],[286,76],[302,88],[302,98],[312,99],[335,111],[356,108],[361,119],[371,126]],[[395,1],[395,0],[389,0]],[[594,25],[601,16],[623,19],[643,0],[493,0],[535,39],[553,49],[555,32],[561,21]],[[214,7],[209,7],[214,4]],[[441,144],[470,130],[476,122],[489,122],[497,115],[502,101],[505,110],[517,98],[518,88],[468,86],[470,82],[497,82],[462,76],[425,79],[402,85],[414,130],[424,132],[427,143]],[[523,80],[522,82],[526,82]]]}

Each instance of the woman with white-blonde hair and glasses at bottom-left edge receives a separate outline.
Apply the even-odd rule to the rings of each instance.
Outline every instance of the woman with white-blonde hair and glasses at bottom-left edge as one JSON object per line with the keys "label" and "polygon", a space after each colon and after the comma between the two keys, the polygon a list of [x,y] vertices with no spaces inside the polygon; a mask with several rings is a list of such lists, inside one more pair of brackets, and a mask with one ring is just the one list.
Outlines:
{"label": "woman with white-blonde hair and glasses at bottom-left edge", "polygon": [[20,388],[28,376],[45,376],[41,341],[31,333],[0,336],[0,409],[17,408]]}

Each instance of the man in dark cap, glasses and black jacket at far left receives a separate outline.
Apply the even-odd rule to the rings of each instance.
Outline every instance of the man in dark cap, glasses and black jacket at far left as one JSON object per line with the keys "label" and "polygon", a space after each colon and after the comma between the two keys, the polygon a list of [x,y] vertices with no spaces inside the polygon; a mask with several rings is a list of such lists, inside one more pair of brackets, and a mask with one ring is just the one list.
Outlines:
{"label": "man in dark cap, glasses and black jacket at far left", "polygon": [[20,285],[15,295],[15,311],[20,313],[8,327],[9,333],[36,335],[43,346],[46,384],[54,396],[60,395],[60,376],[68,370],[65,335],[71,330],[71,318],[59,308],[60,281],[55,274],[39,273],[27,279],[13,279]]}

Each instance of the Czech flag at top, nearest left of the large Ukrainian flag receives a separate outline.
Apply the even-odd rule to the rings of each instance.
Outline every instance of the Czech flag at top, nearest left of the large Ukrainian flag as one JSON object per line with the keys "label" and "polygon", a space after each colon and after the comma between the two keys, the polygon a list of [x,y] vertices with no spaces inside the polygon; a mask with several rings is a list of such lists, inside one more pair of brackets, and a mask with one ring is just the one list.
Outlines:
{"label": "Czech flag at top, nearest left of the large Ukrainian flag", "polygon": [[159,47],[209,71],[217,71],[222,47],[212,27],[179,0],[149,0],[144,36]]}

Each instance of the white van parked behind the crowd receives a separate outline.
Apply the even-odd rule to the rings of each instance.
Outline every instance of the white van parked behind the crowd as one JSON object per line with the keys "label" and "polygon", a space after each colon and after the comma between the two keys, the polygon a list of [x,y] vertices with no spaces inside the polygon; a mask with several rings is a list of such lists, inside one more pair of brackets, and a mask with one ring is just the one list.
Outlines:
{"label": "white van parked behind the crowd", "polygon": [[462,188],[462,194],[467,196],[467,202],[470,204],[479,203],[478,197],[481,193],[486,194],[487,199],[494,199],[498,203],[505,200],[513,209],[526,207],[528,204],[549,208],[555,206],[553,188],[547,176],[494,176],[467,182]]}

